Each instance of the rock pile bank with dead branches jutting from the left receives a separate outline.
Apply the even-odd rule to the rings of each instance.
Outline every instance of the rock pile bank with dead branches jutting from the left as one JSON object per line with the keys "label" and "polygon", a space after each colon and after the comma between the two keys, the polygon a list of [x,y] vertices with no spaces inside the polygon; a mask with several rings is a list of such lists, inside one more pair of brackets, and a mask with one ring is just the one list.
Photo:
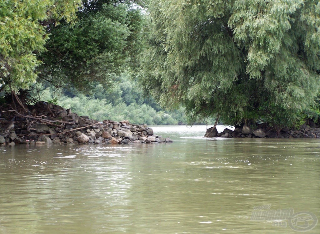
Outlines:
{"label": "rock pile bank with dead branches jutting from the left", "polygon": [[59,105],[38,102],[24,113],[2,110],[0,144],[128,144],[172,142],[146,125],[95,121]]}

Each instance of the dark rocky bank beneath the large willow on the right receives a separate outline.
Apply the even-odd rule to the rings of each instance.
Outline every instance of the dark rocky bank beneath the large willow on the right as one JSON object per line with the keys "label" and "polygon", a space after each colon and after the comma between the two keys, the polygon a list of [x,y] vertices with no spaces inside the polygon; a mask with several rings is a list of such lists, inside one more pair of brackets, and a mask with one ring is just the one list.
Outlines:
{"label": "dark rocky bank beneath the large willow on the right", "polygon": [[262,125],[257,129],[248,126],[231,130],[226,128],[223,132],[218,132],[216,128],[207,129],[204,137],[222,138],[320,138],[320,128],[310,127],[303,124],[298,129],[282,129],[279,131],[268,130]]}

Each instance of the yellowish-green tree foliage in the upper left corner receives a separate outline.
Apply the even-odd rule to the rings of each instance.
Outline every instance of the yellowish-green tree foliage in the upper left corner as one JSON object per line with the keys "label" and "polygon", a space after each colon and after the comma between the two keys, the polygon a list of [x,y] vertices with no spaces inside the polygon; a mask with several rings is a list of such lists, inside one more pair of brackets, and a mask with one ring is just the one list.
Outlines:
{"label": "yellowish-green tree foliage in the upper left corner", "polygon": [[45,50],[46,26],[71,22],[81,0],[2,0],[0,2],[0,91],[16,91],[36,81],[37,54]]}

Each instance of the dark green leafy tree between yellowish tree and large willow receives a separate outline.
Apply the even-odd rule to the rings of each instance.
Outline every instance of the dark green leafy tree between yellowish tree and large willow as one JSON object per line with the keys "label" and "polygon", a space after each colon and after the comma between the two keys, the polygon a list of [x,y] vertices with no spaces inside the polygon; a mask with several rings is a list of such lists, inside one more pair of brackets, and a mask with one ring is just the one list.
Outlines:
{"label": "dark green leafy tree between yellowish tree and large willow", "polygon": [[74,25],[48,28],[39,81],[90,91],[108,87],[140,54],[141,10],[136,1],[84,0]]}

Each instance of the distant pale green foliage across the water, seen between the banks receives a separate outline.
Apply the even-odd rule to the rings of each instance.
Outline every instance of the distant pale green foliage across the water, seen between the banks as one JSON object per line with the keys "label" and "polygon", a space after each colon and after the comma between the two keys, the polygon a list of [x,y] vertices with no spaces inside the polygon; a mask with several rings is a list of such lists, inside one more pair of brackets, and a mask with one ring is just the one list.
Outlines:
{"label": "distant pale green foliage across the water, seen between the banks", "polygon": [[[93,95],[73,92],[61,92],[54,87],[41,91],[40,98],[45,102],[55,101],[57,104],[71,108],[79,115],[89,116],[95,120],[129,120],[135,124],[177,125],[186,124],[184,108],[165,112],[152,100],[143,99],[138,83],[124,73],[116,79],[116,83],[104,89],[97,84]],[[214,121],[212,121],[213,123]]]}

